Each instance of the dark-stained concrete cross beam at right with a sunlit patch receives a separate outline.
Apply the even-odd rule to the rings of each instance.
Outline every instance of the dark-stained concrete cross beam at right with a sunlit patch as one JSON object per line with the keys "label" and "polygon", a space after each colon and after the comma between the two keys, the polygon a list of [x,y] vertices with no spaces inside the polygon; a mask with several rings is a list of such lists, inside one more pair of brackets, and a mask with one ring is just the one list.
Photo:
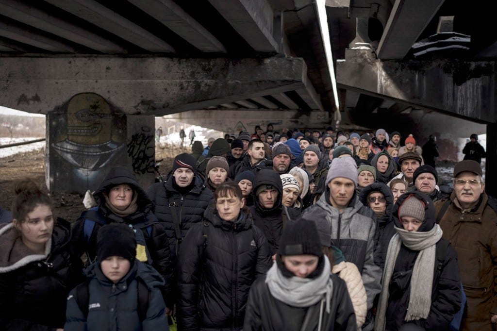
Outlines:
{"label": "dark-stained concrete cross beam at right with a sunlit patch", "polygon": [[347,50],[337,63],[338,88],[462,117],[496,123],[496,63],[380,61],[372,51]]}

